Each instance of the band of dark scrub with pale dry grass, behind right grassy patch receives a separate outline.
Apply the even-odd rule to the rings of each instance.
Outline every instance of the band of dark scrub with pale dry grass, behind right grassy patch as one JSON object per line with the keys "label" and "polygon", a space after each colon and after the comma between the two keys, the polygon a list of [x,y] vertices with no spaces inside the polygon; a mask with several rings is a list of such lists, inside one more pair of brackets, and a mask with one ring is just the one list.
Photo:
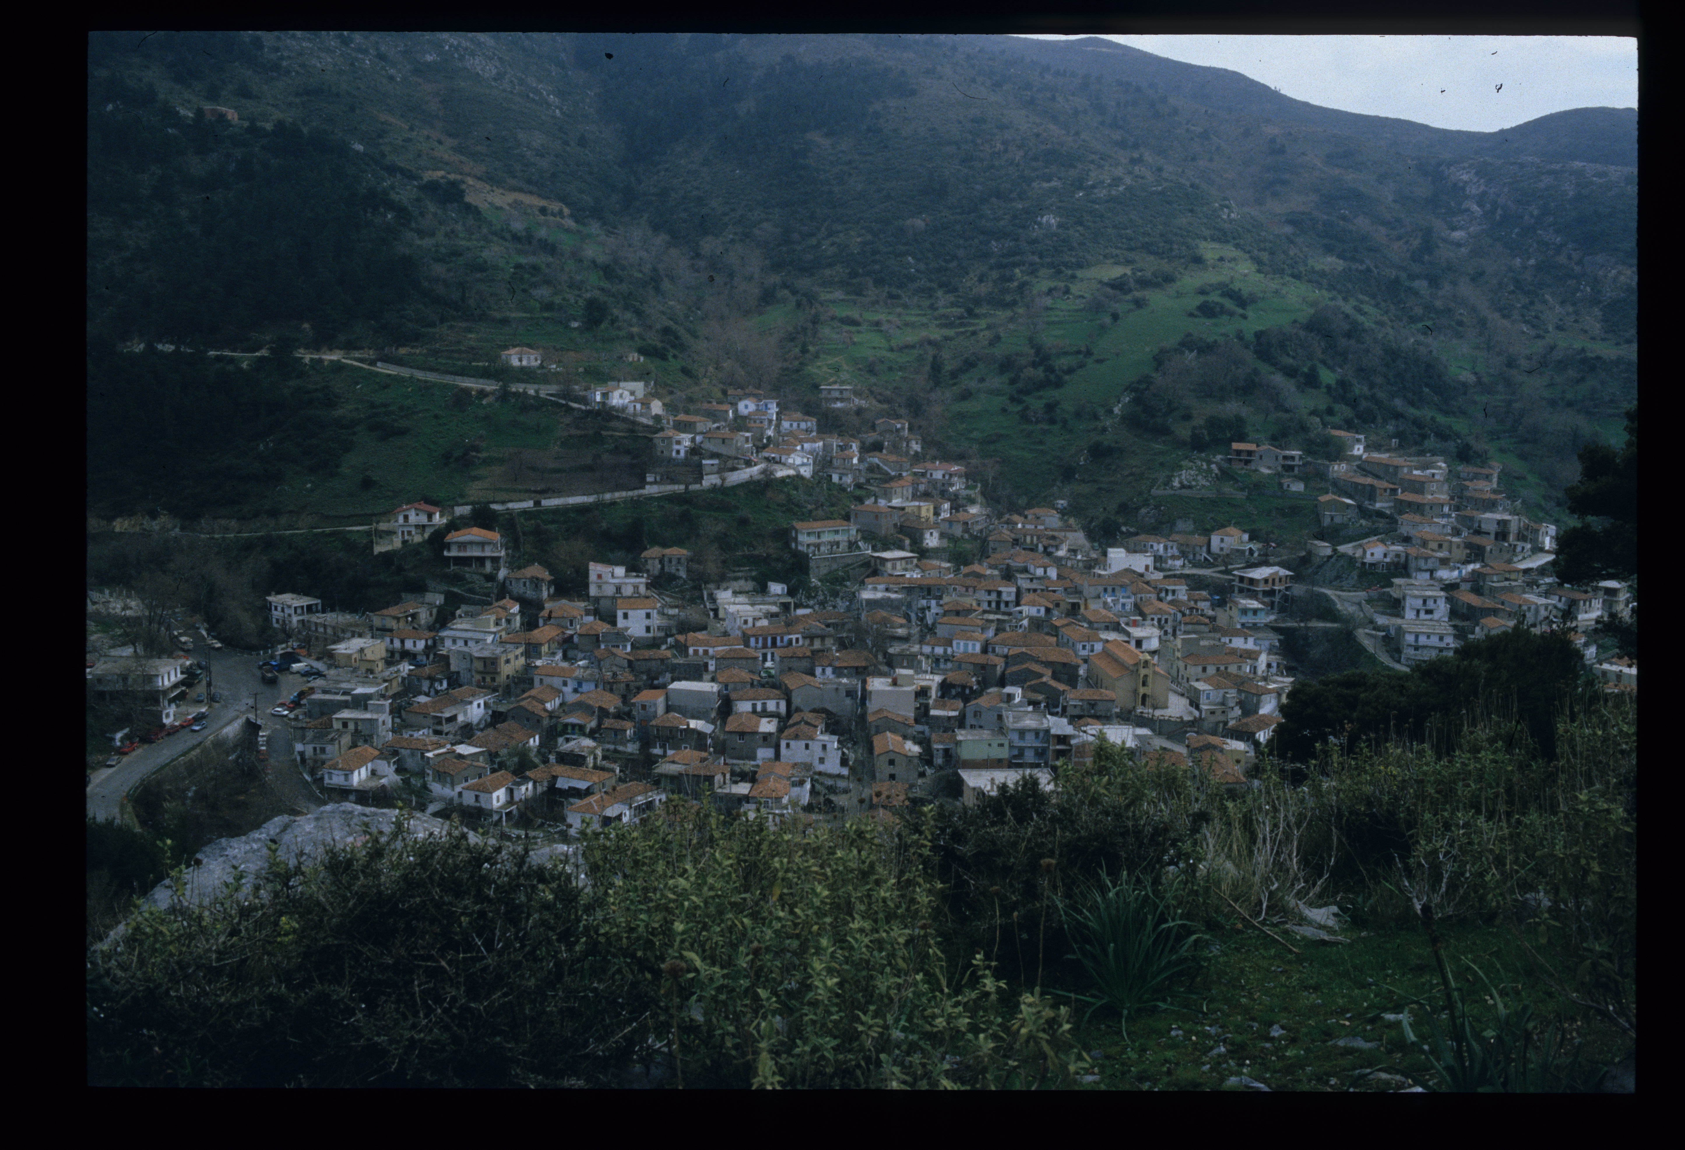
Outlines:
{"label": "band of dark scrub with pale dry grass, behind right grassy patch", "polygon": [[1501,713],[1454,734],[1449,749],[1333,750],[1303,782],[1259,762],[1235,793],[1102,744],[1051,793],[1026,779],[942,813],[949,931],[1021,985],[1087,990],[1092,971],[1055,959],[1083,938],[1045,907],[1105,873],[1176,875],[1201,924],[1336,904],[1405,927],[1426,907],[1513,931],[1562,1002],[1636,1039],[1636,701],[1560,710],[1549,750]]}

